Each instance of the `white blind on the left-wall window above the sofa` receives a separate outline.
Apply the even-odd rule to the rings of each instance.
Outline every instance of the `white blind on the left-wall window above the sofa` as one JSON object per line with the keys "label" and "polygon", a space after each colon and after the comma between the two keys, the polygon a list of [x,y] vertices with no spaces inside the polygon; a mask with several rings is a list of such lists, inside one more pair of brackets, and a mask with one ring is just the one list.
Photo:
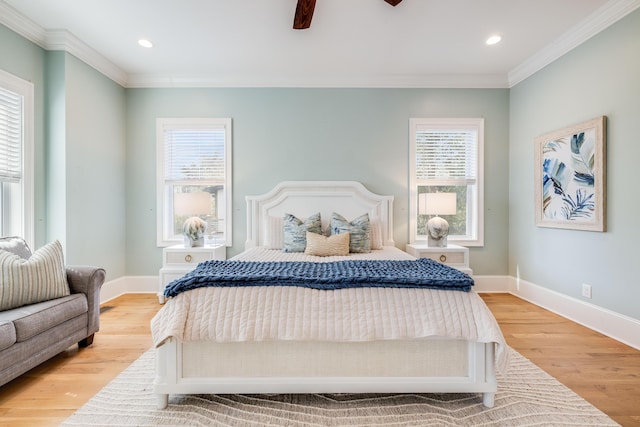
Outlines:
{"label": "white blind on the left-wall window above the sofa", "polygon": [[23,97],[0,88],[0,182],[22,178]]}

